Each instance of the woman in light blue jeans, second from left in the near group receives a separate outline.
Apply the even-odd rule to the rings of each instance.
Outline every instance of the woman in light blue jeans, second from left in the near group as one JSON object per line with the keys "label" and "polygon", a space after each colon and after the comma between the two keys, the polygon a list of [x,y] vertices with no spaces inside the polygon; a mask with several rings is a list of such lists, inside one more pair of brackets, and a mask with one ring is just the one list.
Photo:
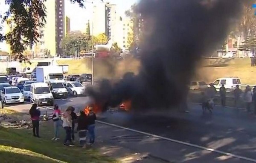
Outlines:
{"label": "woman in light blue jeans, second from left in the near group", "polygon": [[61,126],[61,110],[58,108],[57,104],[54,105],[53,109],[54,111],[52,114],[52,121],[54,126],[54,137],[52,138],[52,140],[59,140],[59,127]]}

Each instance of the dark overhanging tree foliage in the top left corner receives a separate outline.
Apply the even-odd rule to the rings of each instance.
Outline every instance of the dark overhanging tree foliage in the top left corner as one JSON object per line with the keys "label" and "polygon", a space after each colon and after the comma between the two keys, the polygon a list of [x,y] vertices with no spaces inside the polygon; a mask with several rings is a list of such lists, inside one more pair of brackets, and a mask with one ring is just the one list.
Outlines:
{"label": "dark overhanging tree foliage in the top left corner", "polygon": [[[80,7],[84,7],[83,3],[85,1],[70,0],[71,3],[79,3]],[[23,56],[23,51],[27,47],[38,43],[40,37],[38,29],[44,27],[46,23],[47,14],[44,2],[46,0],[5,0],[9,10],[3,16],[3,22],[11,20],[15,27],[5,36],[0,34],[0,42],[6,40],[6,43],[11,46],[10,49],[15,60],[28,61]]]}

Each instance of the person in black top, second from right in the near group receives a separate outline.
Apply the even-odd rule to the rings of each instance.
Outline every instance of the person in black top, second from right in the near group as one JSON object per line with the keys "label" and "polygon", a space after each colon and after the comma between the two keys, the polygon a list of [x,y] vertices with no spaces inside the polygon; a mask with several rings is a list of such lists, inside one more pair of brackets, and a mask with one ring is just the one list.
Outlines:
{"label": "person in black top, second from right in the near group", "polygon": [[80,111],[80,116],[77,119],[77,131],[79,137],[79,144],[83,146],[86,144],[86,135],[88,131],[87,115],[84,111]]}

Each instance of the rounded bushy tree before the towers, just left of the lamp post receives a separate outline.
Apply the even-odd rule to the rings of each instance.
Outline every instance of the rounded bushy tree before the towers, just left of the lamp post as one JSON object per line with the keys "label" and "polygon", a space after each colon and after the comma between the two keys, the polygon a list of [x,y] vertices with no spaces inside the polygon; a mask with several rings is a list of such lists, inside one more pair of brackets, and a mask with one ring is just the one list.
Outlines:
{"label": "rounded bushy tree before the towers, just left of the lamp post", "polygon": [[77,49],[78,52],[84,51],[87,48],[87,37],[86,34],[81,33],[81,31],[72,31],[62,40],[61,48],[64,49],[64,54],[67,56],[75,54]]}

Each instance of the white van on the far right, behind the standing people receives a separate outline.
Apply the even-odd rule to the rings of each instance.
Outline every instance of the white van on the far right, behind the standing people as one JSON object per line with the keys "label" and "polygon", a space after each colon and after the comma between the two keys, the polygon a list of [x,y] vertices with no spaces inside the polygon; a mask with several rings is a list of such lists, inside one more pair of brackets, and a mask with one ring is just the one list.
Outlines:
{"label": "white van on the far right, behind the standing people", "polygon": [[218,78],[213,82],[214,87],[217,91],[220,91],[221,85],[224,84],[226,92],[232,92],[236,89],[236,85],[241,88],[241,80],[239,77],[222,77]]}

